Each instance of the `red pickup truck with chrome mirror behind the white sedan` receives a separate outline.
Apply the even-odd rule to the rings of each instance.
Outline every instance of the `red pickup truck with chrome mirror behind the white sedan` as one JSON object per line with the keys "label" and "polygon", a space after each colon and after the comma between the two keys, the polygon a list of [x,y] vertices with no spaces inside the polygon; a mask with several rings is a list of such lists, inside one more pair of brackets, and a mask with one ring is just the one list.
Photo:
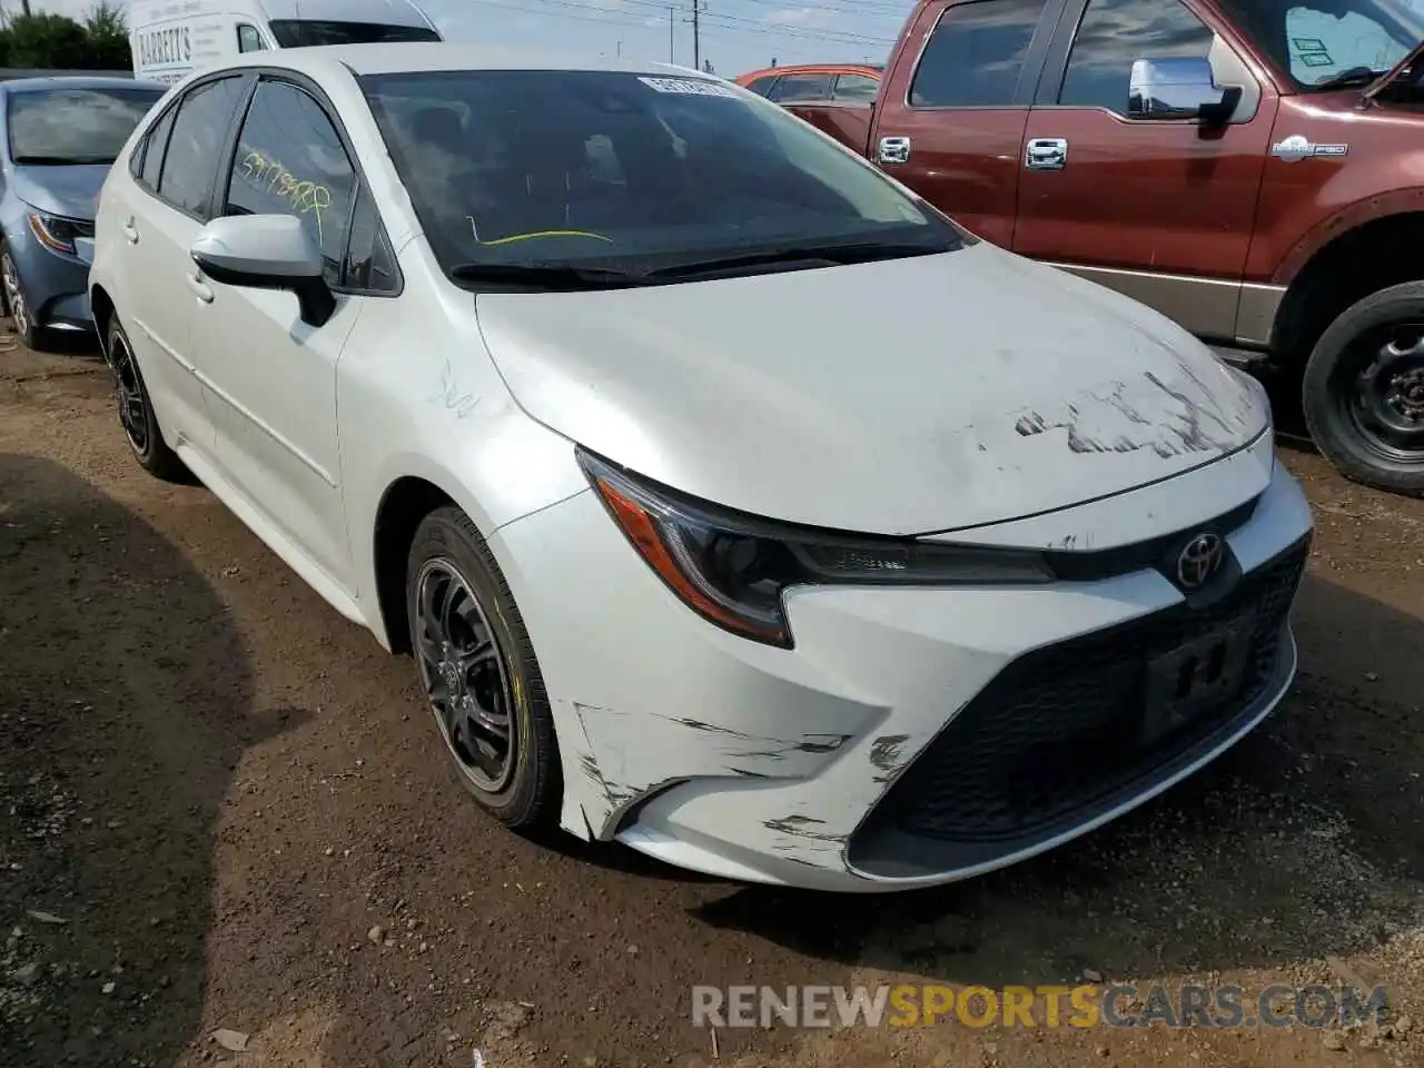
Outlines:
{"label": "red pickup truck with chrome mirror behind the white sedan", "polygon": [[1341,471],[1424,494],[1420,3],[921,0],[871,104],[790,110],[869,128],[980,236],[1296,375]]}

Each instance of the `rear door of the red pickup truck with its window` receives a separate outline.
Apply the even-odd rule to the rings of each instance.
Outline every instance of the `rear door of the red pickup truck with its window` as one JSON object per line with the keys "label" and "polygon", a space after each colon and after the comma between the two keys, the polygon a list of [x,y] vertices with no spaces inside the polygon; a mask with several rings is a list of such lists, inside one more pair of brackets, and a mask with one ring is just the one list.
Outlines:
{"label": "rear door of the red pickup truck with its window", "polygon": [[1005,248],[1028,108],[1061,3],[926,4],[880,91],[871,159]]}

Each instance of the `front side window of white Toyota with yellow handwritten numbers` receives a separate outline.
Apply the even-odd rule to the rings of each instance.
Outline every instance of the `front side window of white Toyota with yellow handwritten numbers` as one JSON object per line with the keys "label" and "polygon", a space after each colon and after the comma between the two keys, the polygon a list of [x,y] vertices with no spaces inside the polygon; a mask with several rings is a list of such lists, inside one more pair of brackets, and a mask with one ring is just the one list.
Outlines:
{"label": "front side window of white Toyota with yellow handwritten numbers", "polygon": [[262,81],[238,134],[224,215],[296,215],[340,285],[356,169],[322,105],[286,81]]}

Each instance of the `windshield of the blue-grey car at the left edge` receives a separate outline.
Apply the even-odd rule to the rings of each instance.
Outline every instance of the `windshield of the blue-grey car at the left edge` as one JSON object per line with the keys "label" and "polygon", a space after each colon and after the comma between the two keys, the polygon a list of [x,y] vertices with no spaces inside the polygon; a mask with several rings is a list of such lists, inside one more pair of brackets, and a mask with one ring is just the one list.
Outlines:
{"label": "windshield of the blue-grey car at the left edge", "polygon": [[11,93],[10,158],[17,164],[111,164],[162,95],[138,87]]}

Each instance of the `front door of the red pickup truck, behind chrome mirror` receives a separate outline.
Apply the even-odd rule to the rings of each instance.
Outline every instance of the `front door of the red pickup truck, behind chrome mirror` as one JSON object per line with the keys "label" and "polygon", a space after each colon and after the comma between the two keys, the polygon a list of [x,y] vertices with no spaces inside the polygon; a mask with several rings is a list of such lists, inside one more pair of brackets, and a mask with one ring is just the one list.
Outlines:
{"label": "front door of the red pickup truck, behind chrome mirror", "polygon": [[[1134,64],[1205,60],[1240,87],[1226,124],[1129,117]],[[1176,64],[1175,70],[1182,70]],[[1279,98],[1230,28],[1182,0],[1069,0],[1020,161],[1012,248],[1233,343]]]}

